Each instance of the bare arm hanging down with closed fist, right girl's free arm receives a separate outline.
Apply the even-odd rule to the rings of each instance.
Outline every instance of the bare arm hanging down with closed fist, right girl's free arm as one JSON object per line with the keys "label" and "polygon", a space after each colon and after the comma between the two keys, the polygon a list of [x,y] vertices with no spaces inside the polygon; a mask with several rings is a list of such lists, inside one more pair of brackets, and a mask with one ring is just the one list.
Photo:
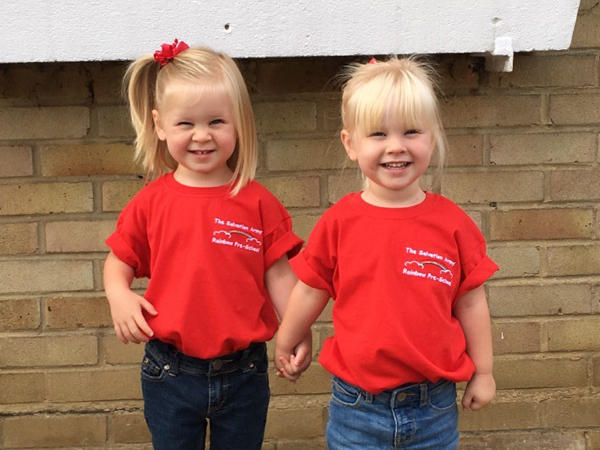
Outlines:
{"label": "bare arm hanging down with closed fist, right girl's free arm", "polygon": [[467,353],[475,365],[475,373],[467,384],[462,405],[464,409],[477,411],[490,403],[496,392],[492,374],[492,327],[483,286],[459,298],[454,306],[454,315],[463,329]]}

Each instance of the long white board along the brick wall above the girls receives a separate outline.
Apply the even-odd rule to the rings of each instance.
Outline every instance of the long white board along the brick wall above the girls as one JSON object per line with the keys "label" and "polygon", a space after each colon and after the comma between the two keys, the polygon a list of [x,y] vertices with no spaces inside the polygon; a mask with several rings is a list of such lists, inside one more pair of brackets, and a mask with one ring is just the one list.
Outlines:
{"label": "long white board along the brick wall above the girls", "polygon": [[2,0],[0,63],[130,60],[174,38],[236,58],[566,49],[579,0]]}

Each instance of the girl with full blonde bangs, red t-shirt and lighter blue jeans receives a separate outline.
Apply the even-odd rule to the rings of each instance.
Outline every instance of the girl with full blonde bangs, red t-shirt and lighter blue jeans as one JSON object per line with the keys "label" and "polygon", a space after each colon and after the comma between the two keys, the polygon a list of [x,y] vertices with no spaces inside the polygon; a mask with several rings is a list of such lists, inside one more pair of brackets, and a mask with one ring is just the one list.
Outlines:
{"label": "girl with full blonde bangs, red t-shirt and lighter blue jeans", "polygon": [[333,337],[320,363],[333,374],[330,450],[456,449],[456,385],[464,409],[494,397],[483,283],[498,269],[458,206],[421,176],[446,139],[430,67],[415,59],[349,68],[341,139],[364,189],[321,217],[292,260],[292,291],[275,347],[297,379],[294,348],[333,298]]}

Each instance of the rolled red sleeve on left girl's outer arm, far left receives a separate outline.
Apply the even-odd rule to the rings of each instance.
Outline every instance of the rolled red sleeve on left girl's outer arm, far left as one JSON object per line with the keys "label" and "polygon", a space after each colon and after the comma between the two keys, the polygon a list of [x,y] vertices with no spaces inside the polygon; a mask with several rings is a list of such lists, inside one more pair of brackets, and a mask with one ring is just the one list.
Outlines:
{"label": "rolled red sleeve on left girl's outer arm, far left", "polygon": [[146,215],[137,198],[119,215],[117,229],[108,237],[106,245],[117,258],[134,269],[136,278],[150,278]]}

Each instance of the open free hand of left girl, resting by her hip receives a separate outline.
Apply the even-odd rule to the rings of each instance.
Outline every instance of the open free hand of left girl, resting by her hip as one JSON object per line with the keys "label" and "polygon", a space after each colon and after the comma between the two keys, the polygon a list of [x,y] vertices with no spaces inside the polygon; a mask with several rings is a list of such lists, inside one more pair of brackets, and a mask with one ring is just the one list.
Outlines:
{"label": "open free hand of left girl, resting by her hip", "polygon": [[115,332],[121,342],[139,344],[154,336],[142,314],[142,310],[153,316],[158,314],[148,300],[129,289],[120,290],[116,295],[113,292],[108,300]]}

